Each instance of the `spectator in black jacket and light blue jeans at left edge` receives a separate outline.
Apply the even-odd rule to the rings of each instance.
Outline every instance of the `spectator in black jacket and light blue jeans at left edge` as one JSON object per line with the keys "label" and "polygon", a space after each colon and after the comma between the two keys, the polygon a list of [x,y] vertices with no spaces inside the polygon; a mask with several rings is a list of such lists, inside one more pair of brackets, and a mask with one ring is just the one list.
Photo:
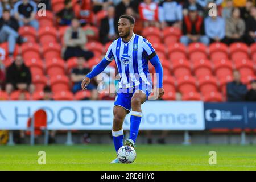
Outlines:
{"label": "spectator in black jacket and light blue jeans at left edge", "polygon": [[0,19],[0,43],[8,40],[9,56],[13,56],[18,34],[18,21],[10,16],[9,10],[3,10],[3,16]]}

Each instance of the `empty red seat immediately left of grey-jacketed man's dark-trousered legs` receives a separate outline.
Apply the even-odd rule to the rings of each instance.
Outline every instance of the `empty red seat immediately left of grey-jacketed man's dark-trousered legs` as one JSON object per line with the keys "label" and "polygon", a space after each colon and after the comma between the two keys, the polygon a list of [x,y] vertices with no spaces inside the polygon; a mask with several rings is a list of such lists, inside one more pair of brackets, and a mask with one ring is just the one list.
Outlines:
{"label": "empty red seat immediately left of grey-jacketed man's dark-trousered legs", "polygon": [[47,43],[43,45],[44,59],[60,58],[61,46],[59,43]]}

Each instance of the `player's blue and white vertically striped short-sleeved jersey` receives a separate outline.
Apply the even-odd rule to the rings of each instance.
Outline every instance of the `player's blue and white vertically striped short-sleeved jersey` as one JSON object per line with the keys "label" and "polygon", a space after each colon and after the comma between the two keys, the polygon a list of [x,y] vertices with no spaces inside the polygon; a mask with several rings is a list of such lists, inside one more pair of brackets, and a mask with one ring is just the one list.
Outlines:
{"label": "player's blue and white vertically striped short-sleeved jersey", "polygon": [[121,38],[114,40],[105,58],[115,60],[120,75],[119,88],[130,88],[139,84],[152,85],[148,71],[148,60],[152,55],[155,55],[155,49],[150,42],[133,34],[129,42],[123,42]]}

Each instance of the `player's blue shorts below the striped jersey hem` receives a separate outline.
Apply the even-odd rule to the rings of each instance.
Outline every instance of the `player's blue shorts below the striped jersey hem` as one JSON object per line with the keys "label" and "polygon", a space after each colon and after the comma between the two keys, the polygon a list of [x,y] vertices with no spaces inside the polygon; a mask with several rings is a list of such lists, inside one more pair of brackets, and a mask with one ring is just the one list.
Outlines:
{"label": "player's blue shorts below the striped jersey hem", "polygon": [[114,106],[121,106],[130,112],[131,97],[133,97],[133,94],[135,93],[136,90],[142,90],[142,92],[146,94],[146,100],[148,100],[148,96],[150,96],[151,90],[147,90],[146,87],[144,86],[137,85],[130,88],[119,89],[117,92],[117,96],[115,96]]}

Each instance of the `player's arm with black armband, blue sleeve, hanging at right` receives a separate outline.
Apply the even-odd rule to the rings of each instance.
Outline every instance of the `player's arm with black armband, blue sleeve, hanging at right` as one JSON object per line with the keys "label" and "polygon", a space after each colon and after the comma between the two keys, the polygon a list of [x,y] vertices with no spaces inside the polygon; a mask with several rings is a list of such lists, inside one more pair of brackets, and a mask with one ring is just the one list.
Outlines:
{"label": "player's arm with black armband, blue sleeve, hanging at right", "polygon": [[155,52],[155,49],[152,47],[151,43],[148,40],[143,40],[143,51],[146,53],[148,60],[150,63],[155,67],[156,76],[158,78],[158,84],[156,87],[158,88],[159,98],[163,96],[164,89],[163,89],[163,67],[159,60],[158,55]]}

